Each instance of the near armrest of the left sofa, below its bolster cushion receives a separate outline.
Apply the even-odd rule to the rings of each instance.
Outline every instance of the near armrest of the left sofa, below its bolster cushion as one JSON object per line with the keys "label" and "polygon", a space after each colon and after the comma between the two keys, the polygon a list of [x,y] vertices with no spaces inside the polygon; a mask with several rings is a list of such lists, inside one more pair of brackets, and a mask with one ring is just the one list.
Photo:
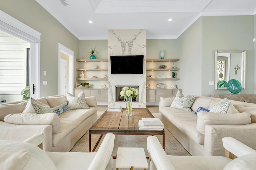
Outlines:
{"label": "near armrest of the left sofa, below its bolster cushion", "polygon": [[43,133],[43,150],[52,150],[52,125],[16,125],[0,121],[0,129],[0,140],[24,141],[37,133]]}

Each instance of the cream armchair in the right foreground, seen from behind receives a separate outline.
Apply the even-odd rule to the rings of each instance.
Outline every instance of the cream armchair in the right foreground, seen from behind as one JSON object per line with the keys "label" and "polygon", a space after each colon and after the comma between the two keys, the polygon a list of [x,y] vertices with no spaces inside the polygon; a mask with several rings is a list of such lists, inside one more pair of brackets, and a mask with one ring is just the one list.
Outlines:
{"label": "cream armchair in the right foreground, seen from behind", "polygon": [[[222,139],[225,156],[171,156],[167,155],[158,139],[150,136],[147,149],[150,156],[150,170],[255,170],[256,150],[232,137]],[[232,153],[230,153],[232,152]],[[235,156],[238,158],[234,158]]]}

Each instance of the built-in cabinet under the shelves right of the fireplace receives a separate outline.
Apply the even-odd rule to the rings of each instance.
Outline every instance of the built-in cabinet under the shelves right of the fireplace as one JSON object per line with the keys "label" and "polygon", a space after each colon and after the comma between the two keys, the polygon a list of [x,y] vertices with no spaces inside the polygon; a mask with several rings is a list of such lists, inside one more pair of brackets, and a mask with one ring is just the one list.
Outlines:
{"label": "built-in cabinet under the shelves right of the fireplace", "polygon": [[160,102],[160,97],[171,98],[175,97],[178,90],[182,92],[182,89],[147,89],[146,90],[146,102],[148,103],[158,103]]}

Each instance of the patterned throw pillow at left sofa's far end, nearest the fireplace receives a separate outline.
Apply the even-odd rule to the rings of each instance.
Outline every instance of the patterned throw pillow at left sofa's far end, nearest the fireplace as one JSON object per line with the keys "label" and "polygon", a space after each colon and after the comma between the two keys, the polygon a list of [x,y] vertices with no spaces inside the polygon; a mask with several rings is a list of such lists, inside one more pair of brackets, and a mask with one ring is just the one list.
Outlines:
{"label": "patterned throw pillow at left sofa's far end, nearest the fireplace", "polygon": [[68,109],[89,109],[89,106],[86,104],[84,91],[81,91],[77,97],[74,97],[72,94],[67,93],[68,99]]}

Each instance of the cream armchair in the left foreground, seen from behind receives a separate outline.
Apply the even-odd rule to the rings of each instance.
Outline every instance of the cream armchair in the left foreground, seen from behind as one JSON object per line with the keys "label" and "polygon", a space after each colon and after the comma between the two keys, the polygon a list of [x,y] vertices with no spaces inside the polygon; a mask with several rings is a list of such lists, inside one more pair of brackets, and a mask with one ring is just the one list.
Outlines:
{"label": "cream armchair in the left foreground, seen from behind", "polygon": [[45,152],[39,148],[44,134],[23,142],[2,140],[0,167],[4,170],[112,170],[114,139],[114,134],[106,134],[97,152]]}

